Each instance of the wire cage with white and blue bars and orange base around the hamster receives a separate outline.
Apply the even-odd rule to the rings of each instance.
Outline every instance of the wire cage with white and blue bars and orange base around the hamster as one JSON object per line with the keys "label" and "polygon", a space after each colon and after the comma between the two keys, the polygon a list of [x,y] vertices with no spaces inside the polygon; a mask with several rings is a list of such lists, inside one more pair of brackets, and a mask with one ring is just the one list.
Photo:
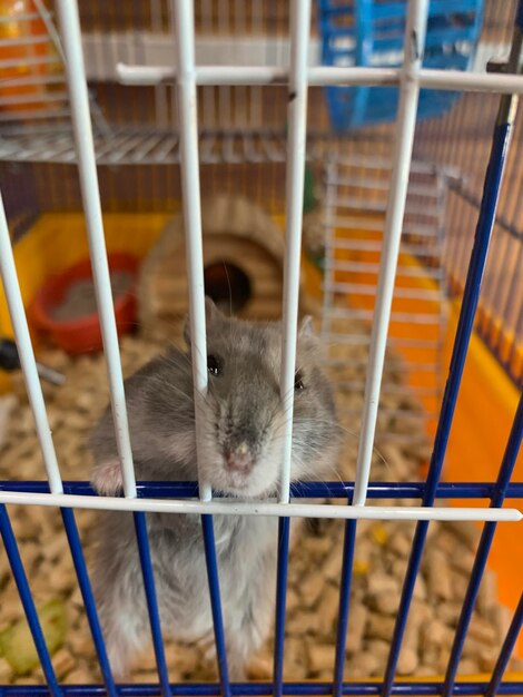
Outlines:
{"label": "wire cage with white and blue bars and orange base around the hamster", "polygon": [[[457,48],[464,62],[475,49],[475,69],[460,73],[421,63],[431,12],[448,3],[405,4],[406,26],[392,28],[420,42],[403,38],[392,68],[322,65],[324,2],[58,0],[57,16],[41,0],[6,6],[0,332],[16,338],[28,390],[2,374],[2,695],[523,690],[523,10],[467,3],[463,31],[477,33]],[[357,132],[333,132],[325,88],[394,89],[396,122],[367,112]],[[420,124],[417,101],[434,109]],[[142,263],[141,326],[118,342],[106,258],[121,252]],[[89,257],[105,352],[72,357],[24,308]],[[298,315],[314,315],[345,433],[335,481],[289,482],[288,458],[277,500],[230,501],[201,477],[136,481],[122,376],[180,342],[189,310],[205,399],[204,289],[225,311],[250,297],[246,316],[282,308],[283,346]],[[296,381],[290,351],[282,394]],[[88,432],[109,399],[119,498],[88,483]],[[132,516],[150,621],[122,685],[91,588],[97,509]],[[274,627],[239,684],[215,539],[231,511],[278,518]],[[201,520],[199,600],[213,618],[201,641],[170,636],[158,606],[156,513]],[[297,530],[299,517],[310,524]]]}

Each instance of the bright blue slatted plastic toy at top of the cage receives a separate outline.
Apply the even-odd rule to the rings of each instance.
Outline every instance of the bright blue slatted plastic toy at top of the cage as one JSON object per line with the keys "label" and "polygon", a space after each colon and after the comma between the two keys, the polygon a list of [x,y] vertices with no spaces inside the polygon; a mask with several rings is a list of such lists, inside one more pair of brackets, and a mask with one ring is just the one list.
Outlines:
{"label": "bright blue slatted plastic toy at top of the cage", "polygon": [[[483,22],[484,0],[432,0],[425,42],[425,68],[467,70]],[[326,66],[394,68],[402,63],[406,0],[319,0],[322,62]],[[392,121],[397,87],[327,87],[330,121],[343,132]],[[417,118],[447,111],[460,92],[421,90]]]}

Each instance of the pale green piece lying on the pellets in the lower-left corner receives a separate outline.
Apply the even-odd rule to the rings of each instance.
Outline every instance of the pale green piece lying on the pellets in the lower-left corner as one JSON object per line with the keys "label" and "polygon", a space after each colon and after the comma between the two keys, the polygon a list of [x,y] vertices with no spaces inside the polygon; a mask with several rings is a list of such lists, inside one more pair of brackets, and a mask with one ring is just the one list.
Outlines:
{"label": "pale green piece lying on the pellets in the lower-left corner", "polygon": [[[38,609],[38,618],[52,656],[66,639],[66,606],[61,600],[51,600]],[[26,618],[0,632],[0,654],[3,654],[17,676],[27,675],[39,665],[40,659]]]}

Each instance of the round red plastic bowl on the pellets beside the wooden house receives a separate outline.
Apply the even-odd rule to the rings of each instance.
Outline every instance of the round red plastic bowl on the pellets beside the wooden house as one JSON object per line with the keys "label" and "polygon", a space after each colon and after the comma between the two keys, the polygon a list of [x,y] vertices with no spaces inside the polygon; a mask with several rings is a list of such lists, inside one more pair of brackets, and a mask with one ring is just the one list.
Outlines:
{"label": "round red plastic bowl on the pellets beside the wooden house", "polygon": [[[127,271],[134,276],[131,287],[115,298],[115,316],[118,334],[132,330],[136,322],[135,282],[139,261],[128,254],[109,254],[111,272]],[[30,320],[38,331],[49,336],[58,346],[71,355],[92,353],[102,348],[100,321],[97,313],[75,317],[73,320],[55,320],[52,310],[59,306],[70,288],[78,281],[92,281],[89,259],[71,266],[58,276],[49,278],[37,292],[29,307]]]}

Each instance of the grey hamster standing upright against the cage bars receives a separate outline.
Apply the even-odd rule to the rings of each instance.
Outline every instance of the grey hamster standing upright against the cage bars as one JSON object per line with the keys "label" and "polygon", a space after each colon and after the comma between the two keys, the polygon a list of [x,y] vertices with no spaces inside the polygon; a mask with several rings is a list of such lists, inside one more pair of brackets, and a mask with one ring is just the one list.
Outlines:
{"label": "grey hamster standing upright against the cage bars", "polygon": [[[279,394],[280,323],[228,318],[206,301],[208,390],[201,408],[200,471],[216,493],[264,499],[278,492],[284,412]],[[185,338],[190,345],[188,324]],[[333,472],[341,428],[320,372],[310,318],[298,332],[292,481]],[[195,406],[190,352],[171,347],[126,383],[137,480],[196,481]],[[121,491],[108,408],[90,440],[92,485]],[[150,553],[164,631],[185,642],[213,640],[200,517],[149,513]],[[275,601],[277,519],[215,516],[216,553],[229,673],[267,638]],[[109,660],[117,678],[149,639],[149,620],[130,513],[105,513],[93,588]]]}

